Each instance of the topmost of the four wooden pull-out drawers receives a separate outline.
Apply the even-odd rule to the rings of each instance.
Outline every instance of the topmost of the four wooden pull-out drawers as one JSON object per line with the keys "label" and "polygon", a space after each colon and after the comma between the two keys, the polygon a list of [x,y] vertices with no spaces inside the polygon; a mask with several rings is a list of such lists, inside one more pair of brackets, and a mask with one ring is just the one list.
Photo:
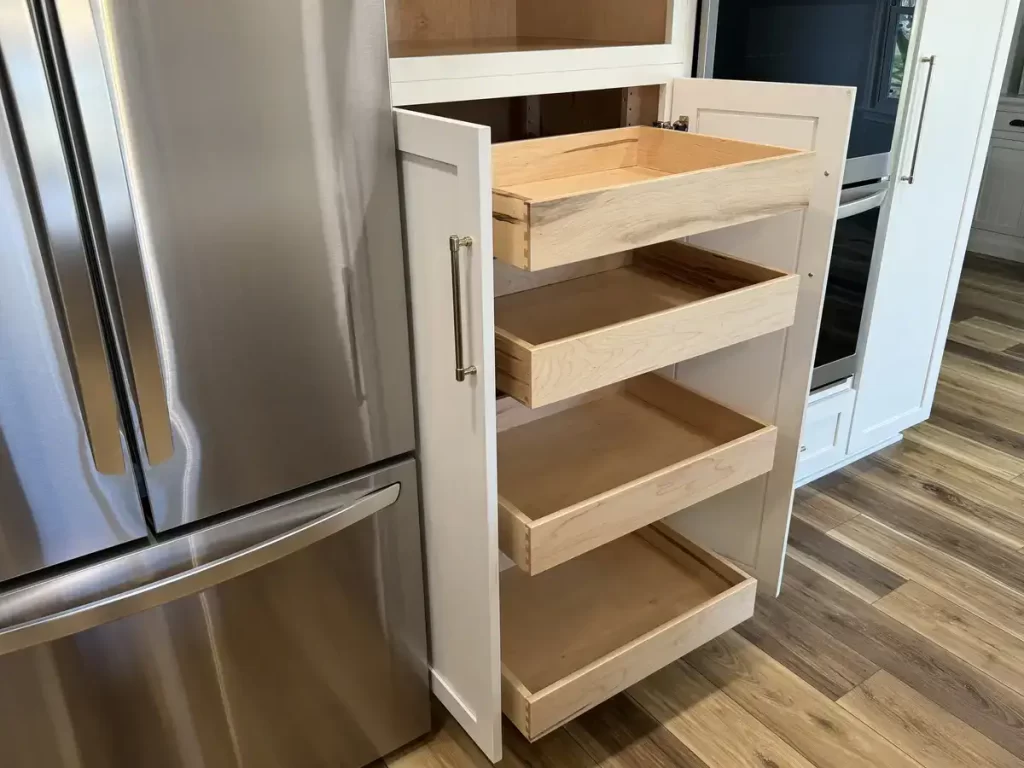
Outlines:
{"label": "topmost of the four wooden pull-out drawers", "polygon": [[814,153],[662,128],[492,148],[495,256],[583,261],[807,205]]}

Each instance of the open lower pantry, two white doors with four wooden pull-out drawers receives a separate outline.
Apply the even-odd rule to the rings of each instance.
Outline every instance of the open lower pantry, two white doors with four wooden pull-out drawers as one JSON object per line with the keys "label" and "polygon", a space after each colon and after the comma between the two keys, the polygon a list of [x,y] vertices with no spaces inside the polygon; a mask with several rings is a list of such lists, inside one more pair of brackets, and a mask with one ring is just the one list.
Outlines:
{"label": "open lower pantry, two white doors with four wooden pull-out drawers", "polygon": [[[691,133],[490,146],[484,126],[396,111],[432,688],[493,760],[503,712],[538,738],[778,589],[853,92],[668,89]],[[676,215],[648,215],[652,194]],[[635,210],[642,247],[578,258],[590,210]],[[571,241],[550,251],[566,263],[495,261],[548,258],[546,238]],[[653,373],[685,358],[681,384]],[[496,399],[498,380],[538,407]]]}

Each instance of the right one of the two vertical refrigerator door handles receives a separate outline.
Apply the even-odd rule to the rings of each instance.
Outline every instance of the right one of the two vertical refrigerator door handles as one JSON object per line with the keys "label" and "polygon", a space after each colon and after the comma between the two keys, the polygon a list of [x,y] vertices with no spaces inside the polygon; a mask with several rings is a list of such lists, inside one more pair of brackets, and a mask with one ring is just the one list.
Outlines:
{"label": "right one of the two vertical refrigerator door handles", "polygon": [[[58,9],[59,6],[59,9]],[[97,258],[104,291],[119,310],[123,322],[118,327],[120,356],[128,388],[135,406],[145,456],[151,466],[163,464],[174,453],[170,411],[160,366],[156,327],[150,306],[142,267],[138,225],[128,190],[126,169],[122,166],[116,131],[89,138],[88,127],[97,121],[105,105],[93,98],[83,104],[78,89],[103,93],[108,88],[98,39],[92,29],[87,0],[40,2],[36,6],[44,44],[53,60],[53,92],[68,126],[68,143],[77,180],[88,210],[89,237]],[[63,34],[60,18],[70,14],[73,33]],[[73,82],[72,72],[81,82]],[[102,122],[102,117],[98,118]],[[95,145],[90,147],[89,142]],[[110,265],[113,273],[103,271]]]}

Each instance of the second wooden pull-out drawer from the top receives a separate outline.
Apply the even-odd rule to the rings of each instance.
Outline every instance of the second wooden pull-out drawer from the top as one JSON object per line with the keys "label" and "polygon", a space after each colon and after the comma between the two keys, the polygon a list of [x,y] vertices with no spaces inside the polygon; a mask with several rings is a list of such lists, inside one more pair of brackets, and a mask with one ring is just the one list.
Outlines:
{"label": "second wooden pull-out drawer from the top", "polygon": [[793,325],[800,278],[664,243],[495,301],[498,388],[530,408]]}

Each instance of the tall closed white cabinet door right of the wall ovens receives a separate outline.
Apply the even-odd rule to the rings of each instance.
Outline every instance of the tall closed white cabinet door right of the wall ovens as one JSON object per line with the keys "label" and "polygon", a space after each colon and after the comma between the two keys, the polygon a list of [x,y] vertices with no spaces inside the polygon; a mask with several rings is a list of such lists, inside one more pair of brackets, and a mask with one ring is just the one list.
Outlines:
{"label": "tall closed white cabinet door right of the wall ovens", "polygon": [[[924,421],[931,410],[1017,4],[924,6],[907,128],[864,308],[852,454]],[[929,56],[934,63],[922,60]],[[911,173],[919,135],[909,183],[900,179]]]}

